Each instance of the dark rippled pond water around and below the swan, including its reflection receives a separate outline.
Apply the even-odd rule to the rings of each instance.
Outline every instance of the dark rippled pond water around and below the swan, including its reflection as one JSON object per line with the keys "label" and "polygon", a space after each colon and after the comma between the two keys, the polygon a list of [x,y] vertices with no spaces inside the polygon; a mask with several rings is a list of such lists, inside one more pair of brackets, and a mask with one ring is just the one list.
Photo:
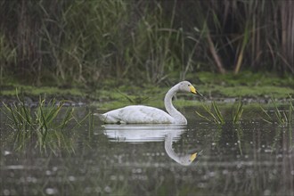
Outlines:
{"label": "dark rippled pond water around and below the swan, including its reflection", "polygon": [[267,124],[252,110],[239,125],[217,126],[194,110],[182,110],[187,126],[102,125],[93,117],[45,150],[35,137],[14,142],[0,114],[0,195],[294,194],[293,125]]}

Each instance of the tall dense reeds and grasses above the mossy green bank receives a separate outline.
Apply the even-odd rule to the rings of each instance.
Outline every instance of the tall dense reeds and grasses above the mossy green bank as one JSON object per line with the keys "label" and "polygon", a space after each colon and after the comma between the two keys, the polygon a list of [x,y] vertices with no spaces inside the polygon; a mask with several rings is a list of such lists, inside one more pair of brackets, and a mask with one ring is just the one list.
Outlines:
{"label": "tall dense reeds and grasses above the mossy green bank", "polygon": [[0,85],[294,74],[294,1],[0,1]]}

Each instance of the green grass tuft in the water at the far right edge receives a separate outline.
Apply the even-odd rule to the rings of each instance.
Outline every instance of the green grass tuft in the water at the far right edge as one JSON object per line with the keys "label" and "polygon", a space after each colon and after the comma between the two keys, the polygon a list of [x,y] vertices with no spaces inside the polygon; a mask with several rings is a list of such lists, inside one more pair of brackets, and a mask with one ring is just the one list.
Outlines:
{"label": "green grass tuft in the water at the far right edge", "polygon": [[292,120],[292,114],[294,111],[293,106],[293,99],[289,94],[289,110],[280,110],[278,108],[277,102],[275,102],[274,97],[271,98],[271,101],[274,104],[274,117],[270,115],[270,112],[268,110],[265,110],[262,106],[260,106],[260,109],[264,112],[265,118],[262,118],[265,122],[270,124],[278,124],[280,127],[285,127],[288,124],[291,123]]}

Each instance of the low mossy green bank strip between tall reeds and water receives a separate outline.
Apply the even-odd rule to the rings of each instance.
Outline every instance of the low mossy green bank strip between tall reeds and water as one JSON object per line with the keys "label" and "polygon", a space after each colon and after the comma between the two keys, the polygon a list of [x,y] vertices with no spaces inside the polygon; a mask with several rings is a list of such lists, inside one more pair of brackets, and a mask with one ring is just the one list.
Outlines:
{"label": "low mossy green bank strip between tall reeds and water", "polygon": [[[219,103],[269,103],[274,98],[276,102],[289,102],[294,97],[294,81],[291,77],[279,77],[272,73],[259,74],[243,71],[238,77],[233,73],[225,75],[200,72],[195,77],[188,75],[187,80],[193,82],[196,89],[204,95],[200,99],[196,95],[178,94],[176,106],[185,107],[198,105],[201,102]],[[146,104],[154,107],[164,107],[163,98],[167,90],[177,80],[168,83],[153,85],[143,83],[135,86],[131,81],[118,82],[115,79],[105,80],[100,88],[92,89],[80,87],[57,86],[26,86],[9,84],[2,86],[0,98],[2,102],[15,102],[16,91],[24,97],[24,102],[34,105],[40,96],[47,100],[70,100],[74,106],[90,105],[102,110],[110,110],[129,104]],[[289,96],[290,95],[290,96]],[[185,97],[184,99],[183,96]],[[2,104],[2,103],[0,103]]]}

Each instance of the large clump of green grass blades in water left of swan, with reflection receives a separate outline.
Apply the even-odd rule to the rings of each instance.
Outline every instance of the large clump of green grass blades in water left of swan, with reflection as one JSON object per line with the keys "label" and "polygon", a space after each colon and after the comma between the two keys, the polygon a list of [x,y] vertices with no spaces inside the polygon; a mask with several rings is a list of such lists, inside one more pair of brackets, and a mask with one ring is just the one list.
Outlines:
{"label": "large clump of green grass blades in water left of swan, with reflection", "polygon": [[[67,101],[57,102],[53,99],[45,103],[45,99],[40,98],[37,109],[32,110],[20,100],[17,92],[16,96],[17,103],[10,105],[3,102],[4,108],[1,109],[8,118],[8,127],[12,129],[10,136],[16,150],[23,149],[26,145],[35,145],[40,151],[49,148],[56,153],[61,146],[73,151],[73,138],[69,137],[65,130],[69,125],[72,126],[70,129],[80,126],[86,118],[78,121],[74,116],[73,107],[61,111]],[[74,123],[71,123],[72,121]]]}

